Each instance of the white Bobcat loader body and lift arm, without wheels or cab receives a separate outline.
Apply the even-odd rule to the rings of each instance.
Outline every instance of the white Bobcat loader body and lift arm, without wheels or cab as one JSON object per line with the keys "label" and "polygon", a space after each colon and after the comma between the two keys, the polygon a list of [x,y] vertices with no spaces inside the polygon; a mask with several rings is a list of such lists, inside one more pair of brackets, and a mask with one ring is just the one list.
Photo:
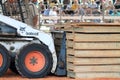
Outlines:
{"label": "white Bobcat loader body and lift arm, without wheels or cab", "polygon": [[[51,72],[52,73],[55,72],[57,66],[57,56],[54,46],[54,40],[52,38],[51,33],[45,33],[43,31],[34,29],[30,25],[27,25],[25,23],[22,23],[20,21],[17,21],[15,19],[9,18],[1,14],[0,14],[0,22],[15,28],[17,30],[17,35],[26,37],[26,38],[20,38],[20,40],[13,38],[16,41],[14,40],[9,42],[2,41],[0,42],[0,44],[4,45],[8,49],[8,51],[18,52],[21,47],[23,47],[26,44],[29,44],[30,42],[40,43],[40,44],[44,43],[49,47],[49,50],[52,53],[53,68]],[[11,50],[11,47],[14,47],[15,49]]]}

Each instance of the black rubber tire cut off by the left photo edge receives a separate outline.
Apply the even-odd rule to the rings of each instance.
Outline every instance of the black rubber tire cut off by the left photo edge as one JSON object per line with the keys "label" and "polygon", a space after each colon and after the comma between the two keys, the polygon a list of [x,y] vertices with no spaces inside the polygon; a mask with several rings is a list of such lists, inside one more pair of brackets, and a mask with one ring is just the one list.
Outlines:
{"label": "black rubber tire cut off by the left photo edge", "polygon": [[10,56],[7,49],[0,44],[0,54],[3,58],[2,66],[0,67],[0,76],[4,75],[10,66]]}

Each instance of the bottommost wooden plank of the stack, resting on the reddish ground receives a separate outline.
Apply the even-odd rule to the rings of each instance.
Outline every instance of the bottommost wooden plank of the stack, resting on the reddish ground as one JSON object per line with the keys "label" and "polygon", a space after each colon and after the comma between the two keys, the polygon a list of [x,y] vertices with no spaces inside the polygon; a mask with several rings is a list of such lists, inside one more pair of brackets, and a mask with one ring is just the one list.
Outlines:
{"label": "bottommost wooden plank of the stack, resting on the reddish ground", "polygon": [[101,72],[101,73],[75,73],[73,71],[68,71],[67,72],[67,76],[68,77],[71,77],[71,78],[120,78],[120,73],[104,73],[104,72]]}

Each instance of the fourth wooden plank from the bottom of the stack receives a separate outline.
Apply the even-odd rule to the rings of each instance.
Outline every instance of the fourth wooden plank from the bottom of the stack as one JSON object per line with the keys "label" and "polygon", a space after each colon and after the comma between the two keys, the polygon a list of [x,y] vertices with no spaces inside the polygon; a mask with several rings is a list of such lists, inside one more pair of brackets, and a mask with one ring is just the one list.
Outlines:
{"label": "fourth wooden plank from the bottom of the stack", "polygon": [[75,57],[120,57],[120,50],[71,50],[67,54]]}

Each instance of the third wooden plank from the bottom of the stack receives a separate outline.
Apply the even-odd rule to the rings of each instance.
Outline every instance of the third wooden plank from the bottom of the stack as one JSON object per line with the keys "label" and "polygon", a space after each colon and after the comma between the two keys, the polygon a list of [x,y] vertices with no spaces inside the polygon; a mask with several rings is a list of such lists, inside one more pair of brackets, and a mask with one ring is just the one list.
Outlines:
{"label": "third wooden plank from the bottom of the stack", "polygon": [[114,65],[120,64],[120,58],[77,58],[68,55],[67,62],[71,62],[74,65]]}

